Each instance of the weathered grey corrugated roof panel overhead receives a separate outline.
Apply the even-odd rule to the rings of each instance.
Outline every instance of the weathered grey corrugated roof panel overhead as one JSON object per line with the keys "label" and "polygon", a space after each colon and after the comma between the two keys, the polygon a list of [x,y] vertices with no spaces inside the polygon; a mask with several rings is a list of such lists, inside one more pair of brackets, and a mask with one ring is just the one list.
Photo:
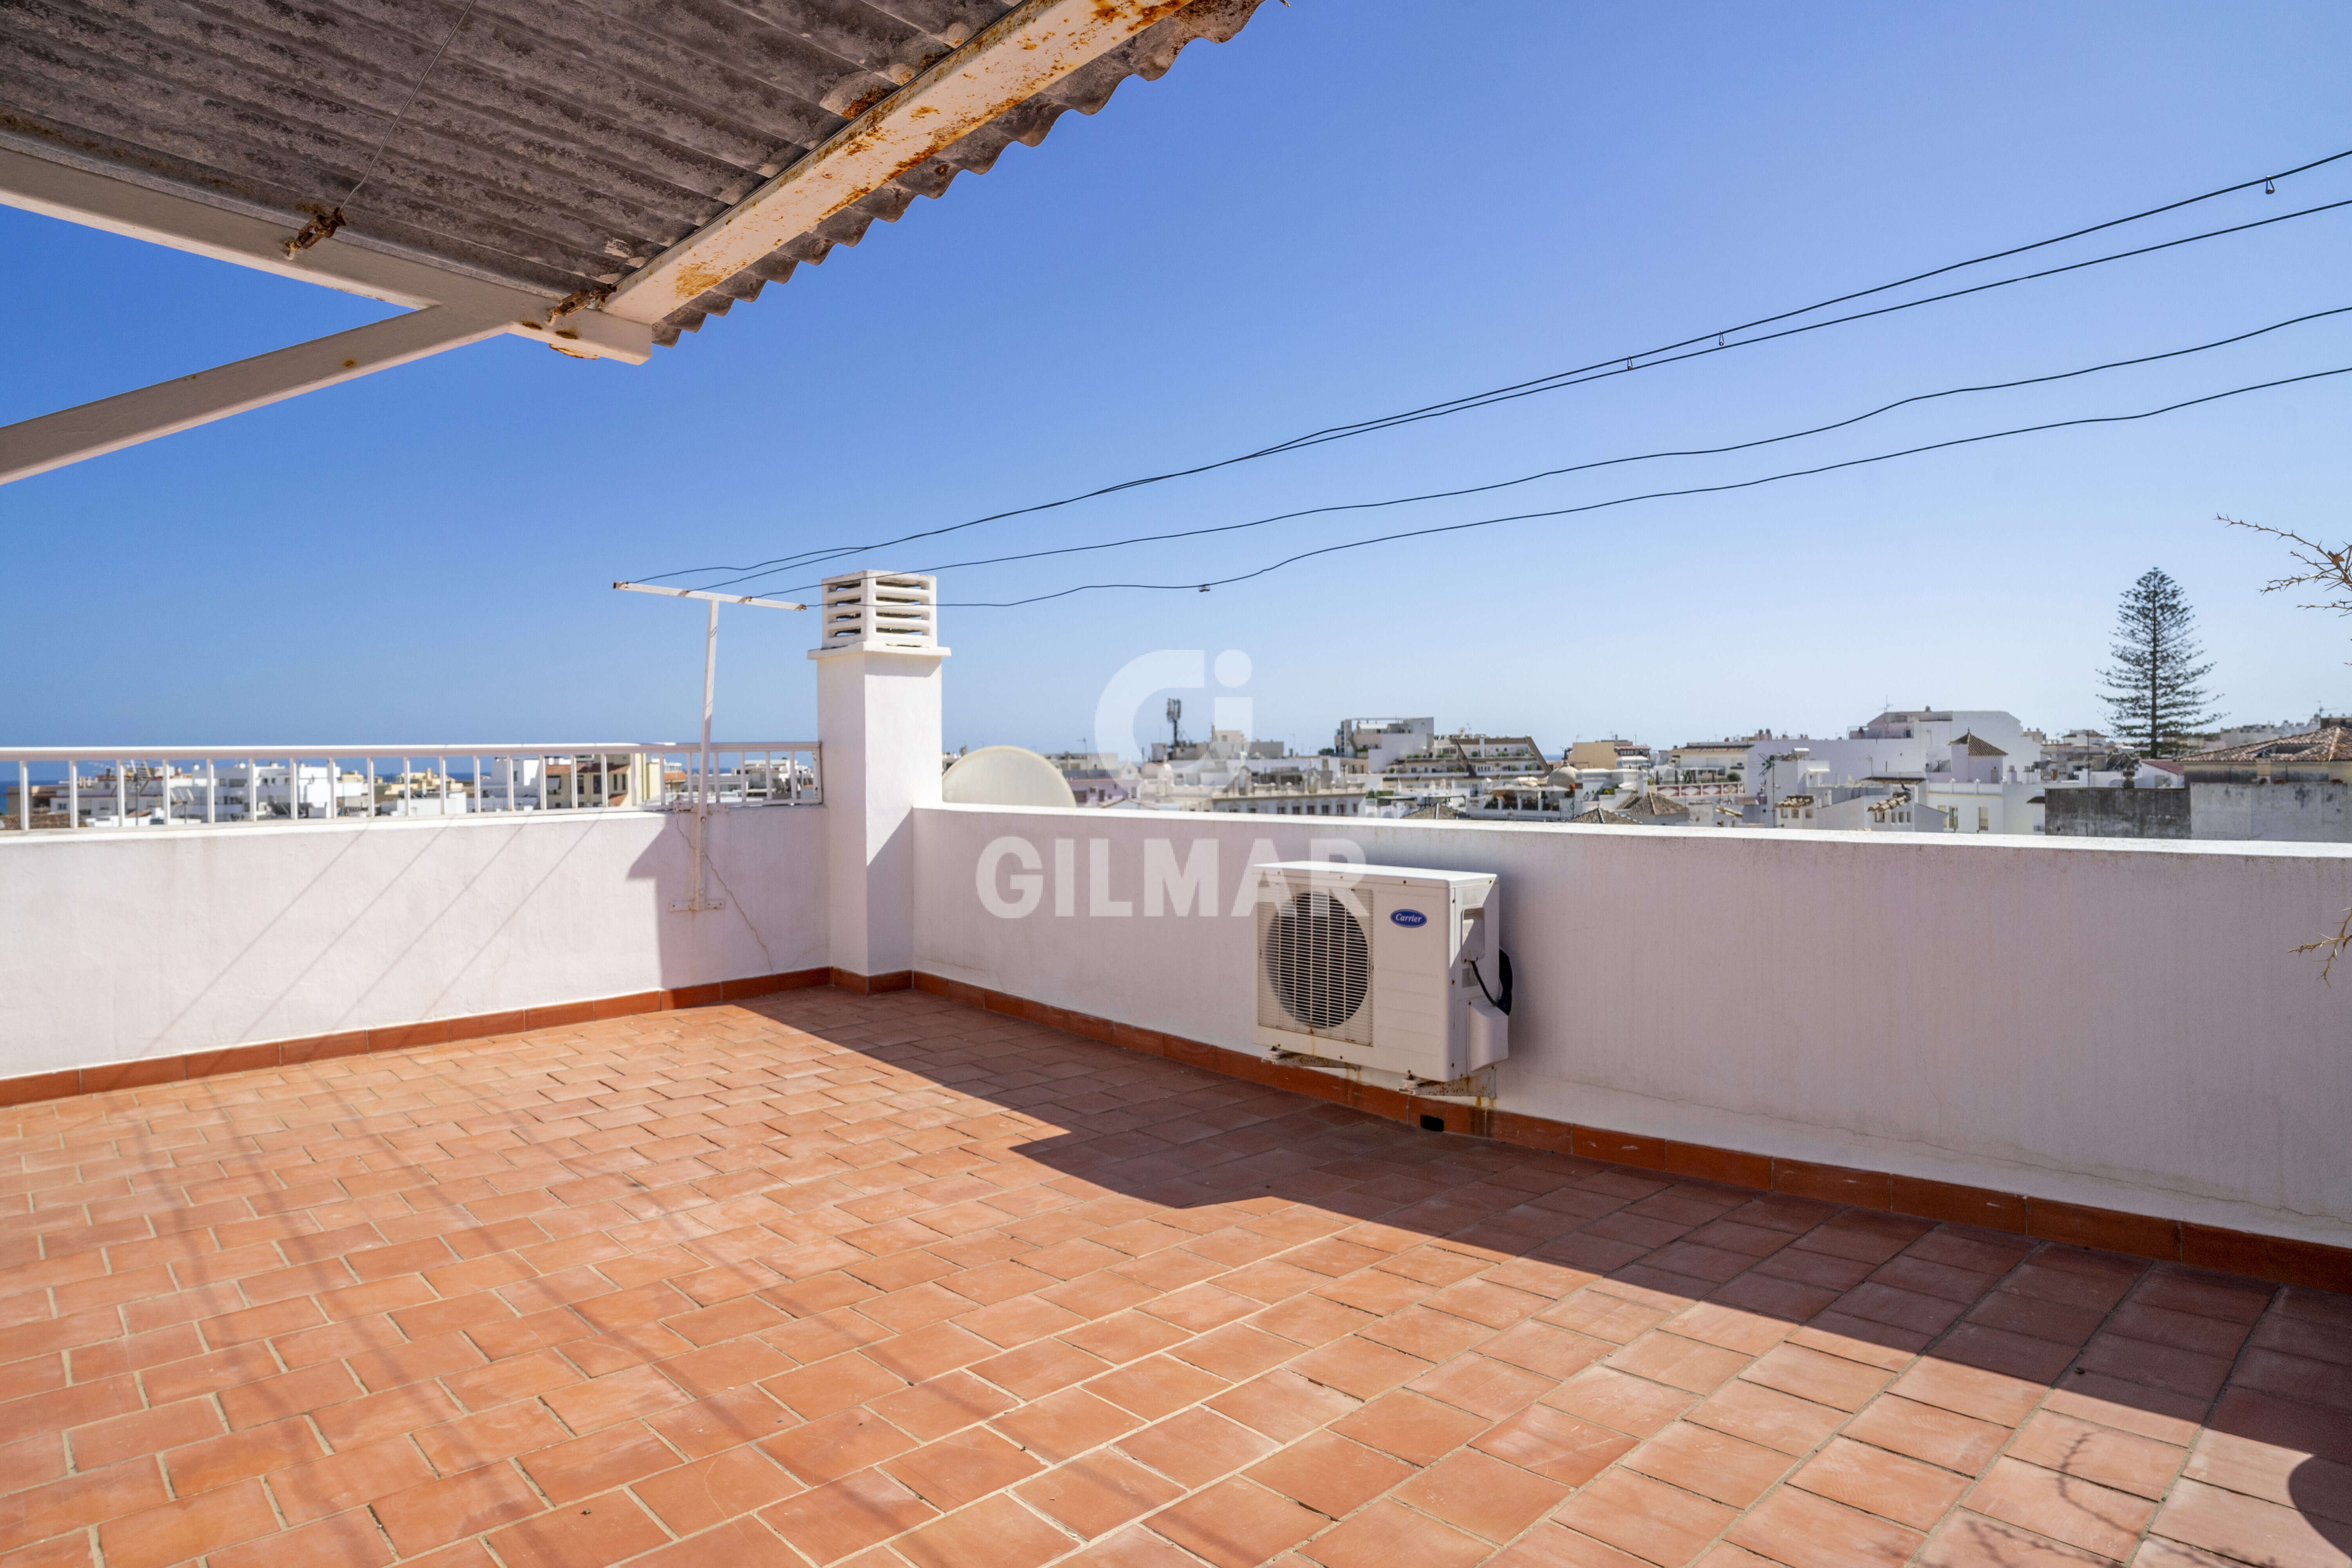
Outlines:
{"label": "weathered grey corrugated roof panel overhead", "polygon": [[[699,329],[917,195],[1223,42],[1195,0],[675,310]],[[1000,0],[7,0],[0,141],[550,299],[621,282],[988,28]],[[437,63],[435,63],[437,59]],[[419,87],[419,82],[423,82]],[[376,150],[381,143],[381,153]],[[353,197],[353,186],[367,174]]]}

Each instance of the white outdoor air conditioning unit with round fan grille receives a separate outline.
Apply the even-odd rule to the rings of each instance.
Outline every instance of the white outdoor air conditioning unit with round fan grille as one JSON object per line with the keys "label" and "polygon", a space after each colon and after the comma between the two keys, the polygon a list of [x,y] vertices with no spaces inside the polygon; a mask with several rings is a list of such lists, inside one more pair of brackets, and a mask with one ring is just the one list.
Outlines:
{"label": "white outdoor air conditioning unit with round fan grille", "polygon": [[1258,870],[1258,1046],[1439,1084],[1510,1053],[1491,872]]}

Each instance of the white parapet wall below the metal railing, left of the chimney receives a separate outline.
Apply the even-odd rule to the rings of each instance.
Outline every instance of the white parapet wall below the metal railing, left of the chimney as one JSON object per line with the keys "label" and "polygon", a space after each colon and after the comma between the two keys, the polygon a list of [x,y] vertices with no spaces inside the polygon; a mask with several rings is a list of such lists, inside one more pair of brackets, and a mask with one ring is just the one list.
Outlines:
{"label": "white parapet wall below the metal railing, left of the chimney", "polygon": [[826,811],[0,837],[0,1077],[826,966]]}

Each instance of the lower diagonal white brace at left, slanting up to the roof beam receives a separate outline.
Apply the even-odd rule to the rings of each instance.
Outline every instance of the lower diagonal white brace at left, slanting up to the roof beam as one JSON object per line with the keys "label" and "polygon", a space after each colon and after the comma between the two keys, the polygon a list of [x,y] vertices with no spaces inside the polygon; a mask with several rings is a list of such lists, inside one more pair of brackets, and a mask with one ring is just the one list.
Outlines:
{"label": "lower diagonal white brace at left, slanting up to the roof beam", "polygon": [[195,371],[179,381],[160,381],[136,393],[0,425],[0,484],[136,447],[174,430],[191,430],[336,381],[355,381],[369,371],[480,343],[508,331],[508,327],[510,317],[506,315],[428,306],[386,322],[369,322],[235,364]]}

